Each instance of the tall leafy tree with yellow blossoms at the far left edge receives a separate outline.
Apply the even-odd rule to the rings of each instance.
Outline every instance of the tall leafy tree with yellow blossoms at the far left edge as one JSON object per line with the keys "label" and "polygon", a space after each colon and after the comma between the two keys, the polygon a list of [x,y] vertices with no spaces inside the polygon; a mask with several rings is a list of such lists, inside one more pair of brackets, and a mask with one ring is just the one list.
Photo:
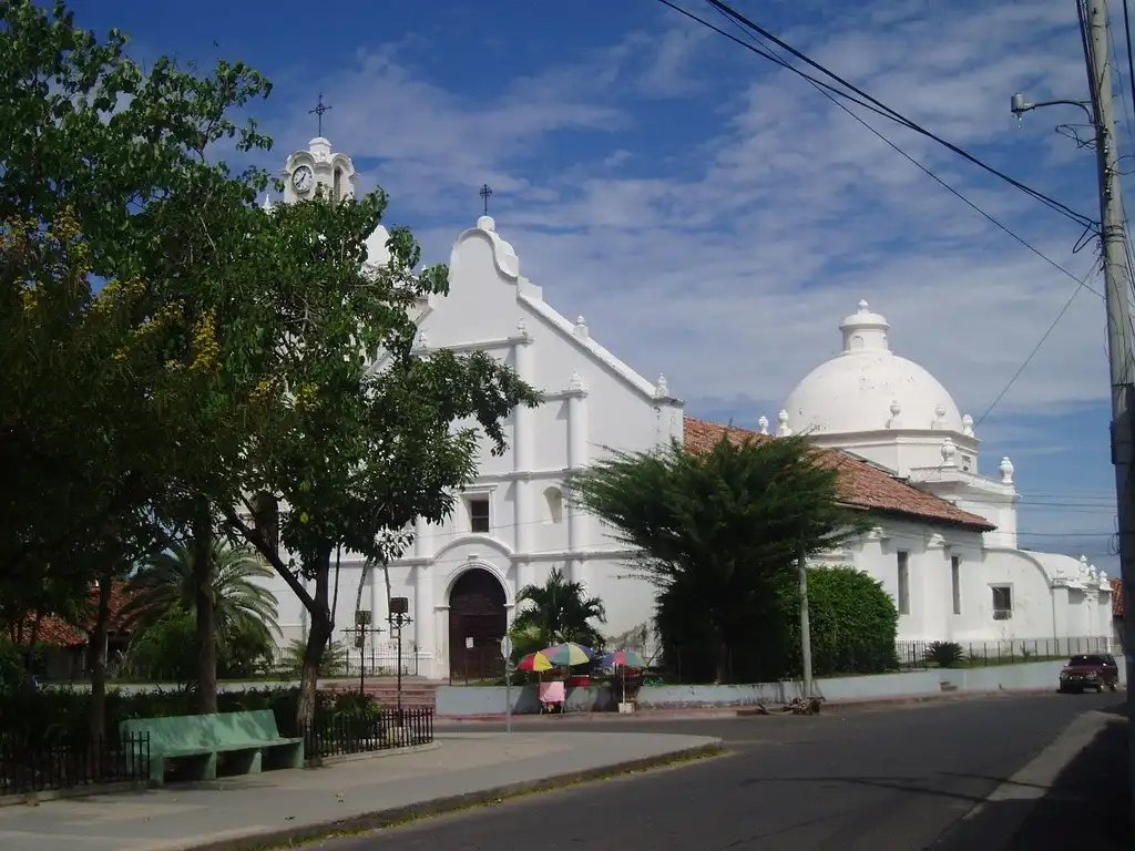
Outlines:
{"label": "tall leafy tree with yellow blossoms at the far left edge", "polygon": [[[213,710],[212,512],[237,499],[249,393],[275,353],[261,336],[270,306],[250,296],[271,287],[255,277],[270,246],[253,203],[268,176],[233,176],[210,149],[221,140],[241,151],[270,145],[254,125],[228,117],[270,86],[224,61],[199,74],[163,58],[143,74],[126,58],[121,33],[99,40],[75,26],[62,2],[51,10],[0,2],[0,221],[27,230],[69,211],[87,271],[108,280],[99,296],[116,306],[110,327],[127,335],[127,352],[149,355],[112,347],[75,363],[54,352],[43,359],[19,337],[0,340],[0,362],[25,390],[9,413],[15,424],[0,430],[3,458],[12,462],[0,505],[37,503],[34,513],[5,515],[0,559],[14,578],[22,572],[22,585],[57,587],[66,597],[99,573],[92,563],[112,572],[106,565],[160,550],[192,526],[201,571],[199,696],[201,708]],[[23,289],[12,292],[3,306],[18,325],[11,307]],[[75,293],[94,297],[90,287]],[[75,329],[86,318],[83,310],[58,313],[56,330],[83,339]],[[116,370],[133,386],[101,380]],[[49,380],[39,381],[44,371]],[[53,394],[30,398],[28,388],[49,386]],[[27,481],[42,482],[49,498],[30,499],[20,489]],[[67,511],[53,509],[60,503]],[[110,551],[101,551],[103,542]],[[36,582],[44,571],[67,581]]]}

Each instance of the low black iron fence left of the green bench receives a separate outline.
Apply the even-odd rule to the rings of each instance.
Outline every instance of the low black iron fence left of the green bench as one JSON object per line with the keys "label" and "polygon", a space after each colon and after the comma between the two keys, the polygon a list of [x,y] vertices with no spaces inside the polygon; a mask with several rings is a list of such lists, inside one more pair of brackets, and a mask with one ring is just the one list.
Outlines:
{"label": "low black iron fence left of the green bench", "polygon": [[144,782],[150,734],[51,744],[0,744],[0,797]]}

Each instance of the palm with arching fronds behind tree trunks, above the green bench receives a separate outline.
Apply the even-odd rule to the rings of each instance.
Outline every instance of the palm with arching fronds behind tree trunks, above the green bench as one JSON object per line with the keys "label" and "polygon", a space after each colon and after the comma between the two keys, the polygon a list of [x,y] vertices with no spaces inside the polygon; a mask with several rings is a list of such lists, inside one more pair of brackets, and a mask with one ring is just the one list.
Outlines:
{"label": "palm with arching fronds behind tree trunks, above the green bench", "polygon": [[[257,580],[272,570],[246,547],[213,545],[212,597],[217,638],[224,646],[237,635],[272,643],[279,632],[276,597]],[[145,562],[126,583],[125,624],[135,634],[174,614],[194,612],[193,542],[183,541]]]}

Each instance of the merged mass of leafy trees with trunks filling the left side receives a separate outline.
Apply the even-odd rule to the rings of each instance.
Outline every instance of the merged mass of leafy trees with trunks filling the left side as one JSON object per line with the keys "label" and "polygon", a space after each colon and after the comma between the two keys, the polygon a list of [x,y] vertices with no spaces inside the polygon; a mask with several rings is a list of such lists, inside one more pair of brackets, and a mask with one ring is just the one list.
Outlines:
{"label": "merged mass of leafy trees with trunks filling the left side", "polygon": [[[381,191],[255,204],[268,174],[235,174],[216,149],[270,149],[234,117],[268,95],[263,76],[228,61],[143,69],[123,33],[98,37],[62,2],[0,0],[0,22],[5,614],[85,600],[92,581],[109,589],[192,541],[211,711],[222,516],[312,614],[313,689],[330,553],[396,557],[417,517],[453,509],[482,438],[503,452],[503,421],[538,395],[486,353],[412,353],[414,305],[448,277],[420,268],[405,228],[388,263],[363,268]],[[278,530],[294,563],[244,516],[254,495],[288,506]]]}

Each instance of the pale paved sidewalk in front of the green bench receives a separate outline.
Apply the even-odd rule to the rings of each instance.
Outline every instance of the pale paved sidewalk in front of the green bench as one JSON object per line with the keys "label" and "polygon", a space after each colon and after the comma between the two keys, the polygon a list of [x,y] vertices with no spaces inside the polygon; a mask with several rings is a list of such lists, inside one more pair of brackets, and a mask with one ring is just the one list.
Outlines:
{"label": "pale paved sidewalk in front of the green bench", "polygon": [[5,851],[243,851],[381,827],[721,750],[655,733],[439,733],[440,748],[327,768],[0,808]]}

